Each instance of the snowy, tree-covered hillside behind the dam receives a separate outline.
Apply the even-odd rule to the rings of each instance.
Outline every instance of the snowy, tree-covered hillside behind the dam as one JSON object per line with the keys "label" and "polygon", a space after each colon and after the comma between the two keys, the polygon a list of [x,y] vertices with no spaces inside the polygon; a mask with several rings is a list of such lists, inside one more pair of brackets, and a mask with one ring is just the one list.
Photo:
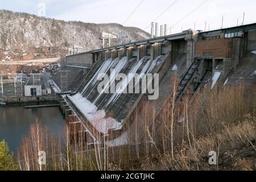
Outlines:
{"label": "snowy, tree-covered hillside behind the dam", "polygon": [[0,10],[0,61],[57,57],[66,55],[73,45],[83,47],[82,51],[97,49],[101,47],[102,31],[118,36],[114,44],[150,38],[139,28],[116,23],[65,22]]}

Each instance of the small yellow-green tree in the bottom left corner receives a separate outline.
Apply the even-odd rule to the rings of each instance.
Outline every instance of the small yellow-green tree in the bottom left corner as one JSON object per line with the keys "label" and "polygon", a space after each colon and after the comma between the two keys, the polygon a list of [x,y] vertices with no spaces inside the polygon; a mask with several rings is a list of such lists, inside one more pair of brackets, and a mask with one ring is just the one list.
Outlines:
{"label": "small yellow-green tree in the bottom left corner", "polygon": [[9,146],[2,140],[0,142],[0,171],[11,171],[15,167],[13,152],[10,152]]}

